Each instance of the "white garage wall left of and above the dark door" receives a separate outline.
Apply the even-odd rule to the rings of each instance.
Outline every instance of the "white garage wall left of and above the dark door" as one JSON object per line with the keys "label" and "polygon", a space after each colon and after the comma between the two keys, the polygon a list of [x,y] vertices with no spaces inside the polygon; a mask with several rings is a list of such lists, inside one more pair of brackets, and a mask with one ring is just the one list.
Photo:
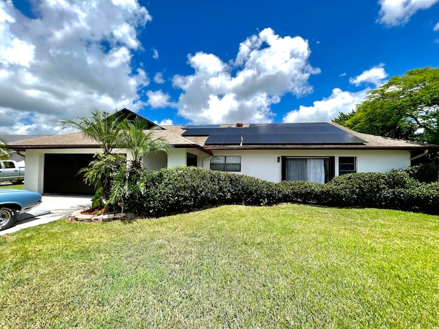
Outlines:
{"label": "white garage wall left of and above the dark door", "polygon": [[45,154],[95,154],[100,149],[27,149],[25,189],[43,193]]}

